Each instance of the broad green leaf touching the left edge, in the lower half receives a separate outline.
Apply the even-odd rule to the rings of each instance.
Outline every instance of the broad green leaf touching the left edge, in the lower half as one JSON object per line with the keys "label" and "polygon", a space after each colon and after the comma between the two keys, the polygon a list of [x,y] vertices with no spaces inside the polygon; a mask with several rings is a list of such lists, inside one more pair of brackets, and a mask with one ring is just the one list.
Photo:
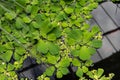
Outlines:
{"label": "broad green leaf touching the left edge, in the lower half", "polygon": [[9,62],[12,57],[13,52],[11,50],[7,50],[5,53],[0,55],[0,58],[5,61]]}

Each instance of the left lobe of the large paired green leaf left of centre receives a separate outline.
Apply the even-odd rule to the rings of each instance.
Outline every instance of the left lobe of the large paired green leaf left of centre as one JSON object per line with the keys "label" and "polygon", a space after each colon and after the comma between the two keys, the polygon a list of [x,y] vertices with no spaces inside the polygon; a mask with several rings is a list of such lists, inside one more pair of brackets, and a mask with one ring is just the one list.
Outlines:
{"label": "left lobe of the large paired green leaf left of centre", "polygon": [[43,54],[46,54],[48,52],[48,45],[46,44],[45,41],[39,40],[37,44],[37,51]]}

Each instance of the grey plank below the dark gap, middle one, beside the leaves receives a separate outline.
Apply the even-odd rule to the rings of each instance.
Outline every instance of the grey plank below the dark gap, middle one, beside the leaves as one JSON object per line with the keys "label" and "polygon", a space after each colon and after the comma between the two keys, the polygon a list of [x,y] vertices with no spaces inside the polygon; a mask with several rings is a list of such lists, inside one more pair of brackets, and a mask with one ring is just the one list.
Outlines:
{"label": "grey plank below the dark gap, middle one, beside the leaves", "polygon": [[115,53],[116,50],[113,48],[113,46],[106,37],[104,37],[102,41],[103,41],[102,47],[98,49],[98,52],[100,53],[101,57],[104,59]]}

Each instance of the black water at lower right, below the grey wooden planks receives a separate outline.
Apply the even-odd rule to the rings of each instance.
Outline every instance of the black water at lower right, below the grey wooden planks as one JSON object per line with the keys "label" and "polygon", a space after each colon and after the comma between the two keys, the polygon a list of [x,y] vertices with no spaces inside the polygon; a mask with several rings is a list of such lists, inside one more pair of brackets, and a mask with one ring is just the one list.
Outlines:
{"label": "black water at lower right, below the grey wooden planks", "polygon": [[114,73],[115,76],[112,80],[120,80],[120,52],[114,53],[110,57],[95,63],[94,68],[103,68],[105,75]]}

